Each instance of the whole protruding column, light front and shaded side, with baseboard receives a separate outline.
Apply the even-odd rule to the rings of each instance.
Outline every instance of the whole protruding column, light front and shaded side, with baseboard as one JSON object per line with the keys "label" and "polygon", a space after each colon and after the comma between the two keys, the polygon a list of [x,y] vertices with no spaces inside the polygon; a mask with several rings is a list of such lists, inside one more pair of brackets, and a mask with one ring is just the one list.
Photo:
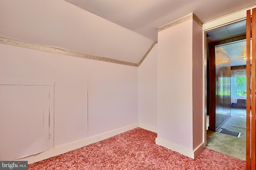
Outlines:
{"label": "whole protruding column, light front and shaded side, with baseboard", "polygon": [[158,32],[156,143],[195,158],[203,143],[202,27],[192,18]]}

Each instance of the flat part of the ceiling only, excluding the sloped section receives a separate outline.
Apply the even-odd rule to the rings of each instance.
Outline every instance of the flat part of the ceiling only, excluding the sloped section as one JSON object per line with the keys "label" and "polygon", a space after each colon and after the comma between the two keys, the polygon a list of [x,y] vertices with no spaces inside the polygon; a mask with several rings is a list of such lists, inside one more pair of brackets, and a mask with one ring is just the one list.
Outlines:
{"label": "flat part of the ceiling only, excluding the sloped section", "polygon": [[194,13],[204,23],[248,8],[255,0],[66,0],[152,40],[157,28]]}

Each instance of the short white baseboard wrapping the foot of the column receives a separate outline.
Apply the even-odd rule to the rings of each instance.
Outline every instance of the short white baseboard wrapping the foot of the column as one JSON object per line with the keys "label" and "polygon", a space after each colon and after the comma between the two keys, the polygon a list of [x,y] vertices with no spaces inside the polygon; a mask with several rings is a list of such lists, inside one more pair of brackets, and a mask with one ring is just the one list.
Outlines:
{"label": "short white baseboard wrapping the foot of the column", "polygon": [[167,149],[179,152],[180,154],[183,154],[185,156],[188,156],[190,158],[196,158],[196,156],[198,156],[198,154],[200,154],[200,152],[204,149],[204,143],[202,142],[200,145],[198,145],[198,147],[196,147],[196,149],[194,150],[190,150],[184,147],[180,147],[177,145],[174,145],[170,142],[164,141],[162,139],[156,138],[156,144],[166,147]]}

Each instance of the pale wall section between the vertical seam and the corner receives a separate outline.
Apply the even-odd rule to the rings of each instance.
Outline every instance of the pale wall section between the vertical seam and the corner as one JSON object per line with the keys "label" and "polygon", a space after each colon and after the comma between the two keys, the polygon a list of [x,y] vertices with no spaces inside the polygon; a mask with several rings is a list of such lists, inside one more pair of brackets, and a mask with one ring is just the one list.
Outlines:
{"label": "pale wall section between the vertical seam and the corner", "polygon": [[88,135],[138,123],[137,68],[88,60]]}

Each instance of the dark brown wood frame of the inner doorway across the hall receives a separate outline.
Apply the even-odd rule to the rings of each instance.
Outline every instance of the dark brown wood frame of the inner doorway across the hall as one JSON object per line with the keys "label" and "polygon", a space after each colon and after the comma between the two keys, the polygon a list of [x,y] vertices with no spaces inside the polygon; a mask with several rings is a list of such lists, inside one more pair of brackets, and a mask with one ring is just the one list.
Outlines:
{"label": "dark brown wood frame of the inner doorway across the hall", "polygon": [[239,41],[246,39],[246,35],[240,35],[237,37],[229,38],[229,39],[224,39],[221,41],[216,41],[213,43],[208,43],[208,51],[209,51],[209,77],[207,80],[209,81],[209,110],[207,110],[208,115],[209,115],[209,127],[208,130],[214,131],[216,130],[216,64],[215,64],[215,46],[216,45],[221,45],[225,43],[231,43],[234,41]]}

